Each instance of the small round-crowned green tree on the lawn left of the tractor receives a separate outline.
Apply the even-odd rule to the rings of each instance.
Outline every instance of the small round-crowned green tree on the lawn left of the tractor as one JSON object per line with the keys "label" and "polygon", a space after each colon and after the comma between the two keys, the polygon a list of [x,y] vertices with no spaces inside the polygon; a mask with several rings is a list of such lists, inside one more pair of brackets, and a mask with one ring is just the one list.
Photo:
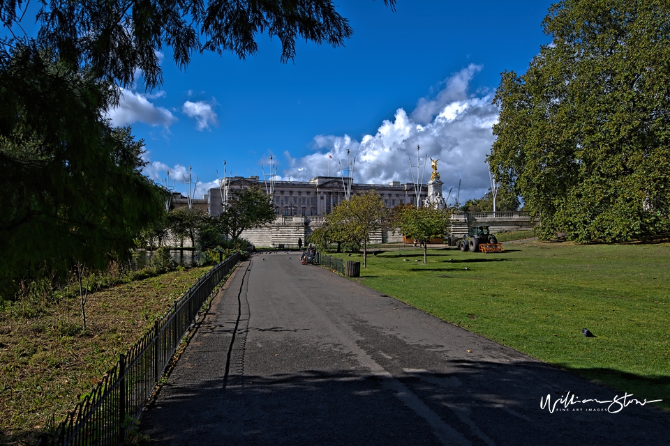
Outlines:
{"label": "small round-crowned green tree on the lawn left of the tractor", "polygon": [[424,263],[428,263],[428,241],[444,236],[451,223],[451,209],[405,206],[401,213],[400,229],[406,237],[424,242]]}

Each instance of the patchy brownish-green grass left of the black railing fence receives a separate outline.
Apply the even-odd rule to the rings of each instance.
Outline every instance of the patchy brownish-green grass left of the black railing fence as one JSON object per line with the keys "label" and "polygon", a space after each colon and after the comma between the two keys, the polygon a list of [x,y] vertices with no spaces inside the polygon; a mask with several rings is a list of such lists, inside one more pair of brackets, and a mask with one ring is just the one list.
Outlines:
{"label": "patchy brownish-green grass left of the black railing fence", "polygon": [[20,300],[0,312],[0,444],[60,422],[207,268],[168,272],[78,298]]}

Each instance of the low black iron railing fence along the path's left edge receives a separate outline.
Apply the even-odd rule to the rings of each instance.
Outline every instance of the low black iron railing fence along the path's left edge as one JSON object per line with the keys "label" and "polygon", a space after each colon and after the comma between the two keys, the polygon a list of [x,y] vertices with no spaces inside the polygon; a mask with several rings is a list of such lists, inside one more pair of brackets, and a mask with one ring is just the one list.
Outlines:
{"label": "low black iron railing fence along the path's left edge", "polygon": [[119,445],[154,392],[198,311],[240,260],[239,254],[211,268],[105,374],[94,390],[59,424],[51,445]]}

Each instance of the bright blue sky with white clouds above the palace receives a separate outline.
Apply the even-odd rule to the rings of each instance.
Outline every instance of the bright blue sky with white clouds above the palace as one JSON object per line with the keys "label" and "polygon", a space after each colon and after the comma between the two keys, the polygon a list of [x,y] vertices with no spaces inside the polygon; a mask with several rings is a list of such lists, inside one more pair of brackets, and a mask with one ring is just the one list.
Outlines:
{"label": "bright blue sky with white clouds above the palace", "polygon": [[128,89],[110,111],[144,139],[145,174],[160,183],[169,170],[184,193],[193,167],[201,198],[224,160],[229,174],[262,178],[273,155],[281,178],[308,180],[338,174],[350,149],[356,182],[407,182],[419,144],[440,160],[445,194],[460,179],[461,203],[482,197],[500,72],[526,72],[551,42],[542,33],[551,1],[398,0],[395,13],[382,1],[336,4],[354,29],[345,47],[300,42],[287,64],[265,36],[246,61],[194,54],[184,71],[164,48],[163,85]]}

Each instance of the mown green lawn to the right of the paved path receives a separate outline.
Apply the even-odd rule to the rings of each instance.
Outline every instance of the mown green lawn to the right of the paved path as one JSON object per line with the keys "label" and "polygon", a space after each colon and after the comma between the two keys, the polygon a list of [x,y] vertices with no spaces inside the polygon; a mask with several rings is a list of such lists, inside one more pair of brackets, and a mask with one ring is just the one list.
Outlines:
{"label": "mown green lawn to the right of the paved path", "polygon": [[[422,259],[418,249],[369,256],[356,280],[616,390],[663,399],[660,406],[670,408],[668,243],[528,242],[502,254],[435,249],[427,264]],[[584,337],[582,328],[597,337]]]}

